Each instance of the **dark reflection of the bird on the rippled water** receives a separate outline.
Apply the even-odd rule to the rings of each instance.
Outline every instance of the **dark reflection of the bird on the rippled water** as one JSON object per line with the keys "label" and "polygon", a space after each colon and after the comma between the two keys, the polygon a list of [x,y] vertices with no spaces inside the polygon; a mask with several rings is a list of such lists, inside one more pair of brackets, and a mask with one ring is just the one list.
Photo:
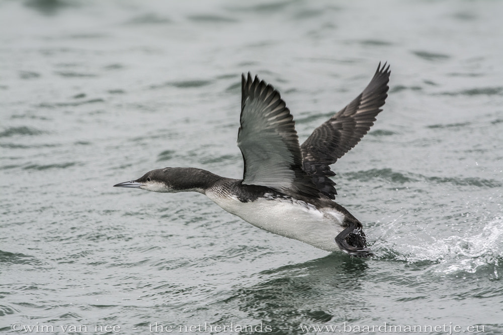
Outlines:
{"label": "dark reflection of the bird on the rippled water", "polygon": [[[239,287],[224,302],[235,305],[247,318],[272,326],[270,333],[302,333],[300,325],[306,322],[341,322],[354,306],[365,306],[356,292],[362,289],[367,270],[365,260],[333,253],[263,271],[259,274],[263,282]],[[232,319],[235,316],[228,315]]]}

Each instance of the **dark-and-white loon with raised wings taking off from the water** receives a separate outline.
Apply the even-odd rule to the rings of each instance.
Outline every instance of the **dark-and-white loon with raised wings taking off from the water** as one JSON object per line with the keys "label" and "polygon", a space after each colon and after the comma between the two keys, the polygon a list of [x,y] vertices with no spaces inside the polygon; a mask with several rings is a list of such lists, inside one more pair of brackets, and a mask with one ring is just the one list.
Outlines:
{"label": "dark-and-white loon with raised wings taking off from the water", "polygon": [[372,256],[362,223],[334,201],[336,163],[367,134],[382,111],[390,76],[379,62],[366,88],[299,145],[295,122],[280,93],[248,72],[241,75],[237,145],[242,179],[193,167],[165,167],[114,185],[153,192],[205,194],[231,214],[268,232],[329,252]]}

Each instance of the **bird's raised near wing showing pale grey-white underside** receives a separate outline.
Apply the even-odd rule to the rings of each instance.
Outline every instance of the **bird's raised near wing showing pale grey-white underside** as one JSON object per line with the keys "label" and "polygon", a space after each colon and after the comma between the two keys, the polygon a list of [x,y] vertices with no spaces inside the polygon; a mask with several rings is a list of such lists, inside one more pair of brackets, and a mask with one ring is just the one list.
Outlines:
{"label": "bird's raised near wing showing pale grey-white underside", "polygon": [[243,184],[262,185],[288,195],[319,197],[302,169],[295,122],[273,86],[242,75],[237,145],[244,160]]}

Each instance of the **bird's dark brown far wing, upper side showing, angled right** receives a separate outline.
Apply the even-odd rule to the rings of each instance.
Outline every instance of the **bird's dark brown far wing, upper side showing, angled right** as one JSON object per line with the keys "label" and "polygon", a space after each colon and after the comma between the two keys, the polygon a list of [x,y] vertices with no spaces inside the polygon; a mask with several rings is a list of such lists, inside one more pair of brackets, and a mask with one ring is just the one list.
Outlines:
{"label": "bird's dark brown far wing, upper side showing, angled right", "polygon": [[374,77],[360,95],[339,113],[316,128],[302,144],[303,169],[321,193],[331,199],[337,191],[329,178],[330,164],[350,151],[376,121],[388,96],[389,65],[379,63]]}

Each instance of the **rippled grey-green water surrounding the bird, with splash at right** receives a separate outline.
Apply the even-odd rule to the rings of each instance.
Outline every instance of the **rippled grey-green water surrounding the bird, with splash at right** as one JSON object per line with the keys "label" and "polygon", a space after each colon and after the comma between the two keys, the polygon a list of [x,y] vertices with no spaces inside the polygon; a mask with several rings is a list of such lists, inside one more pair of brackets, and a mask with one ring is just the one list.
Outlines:
{"label": "rippled grey-green water surrounding the bird, with splash at right", "polygon": [[[0,332],[503,333],[500,1],[0,1]],[[261,231],[154,168],[242,176],[240,75],[303,141],[391,64],[332,169],[375,256]]]}

